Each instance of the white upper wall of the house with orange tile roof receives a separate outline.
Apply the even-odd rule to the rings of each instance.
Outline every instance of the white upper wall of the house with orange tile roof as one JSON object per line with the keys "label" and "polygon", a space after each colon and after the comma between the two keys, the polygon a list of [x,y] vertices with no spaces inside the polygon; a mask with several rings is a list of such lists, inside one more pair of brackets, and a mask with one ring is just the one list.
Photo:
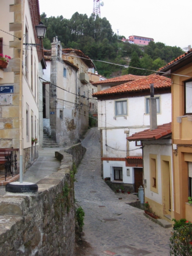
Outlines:
{"label": "white upper wall of the house with orange tile roof", "polygon": [[[159,96],[159,95],[155,95]],[[150,127],[150,115],[145,114],[145,98],[148,96],[122,98],[127,99],[127,116],[126,119],[122,117],[115,117],[115,100],[98,100],[98,127],[103,129],[102,131],[102,144],[103,144],[103,157],[125,157],[126,150],[126,137],[131,136],[134,133],[143,131]],[[161,113],[157,114],[157,124],[168,123],[171,121],[171,94],[161,94]],[[101,115],[102,114],[102,115]],[[105,127],[107,127],[105,131]],[[118,129],[117,129],[118,128]],[[129,134],[125,134],[124,131],[129,131]],[[106,151],[105,144],[116,148],[112,150],[108,147]],[[129,150],[131,156],[141,155],[141,150],[135,150],[139,148],[135,146],[135,142],[129,143]]]}

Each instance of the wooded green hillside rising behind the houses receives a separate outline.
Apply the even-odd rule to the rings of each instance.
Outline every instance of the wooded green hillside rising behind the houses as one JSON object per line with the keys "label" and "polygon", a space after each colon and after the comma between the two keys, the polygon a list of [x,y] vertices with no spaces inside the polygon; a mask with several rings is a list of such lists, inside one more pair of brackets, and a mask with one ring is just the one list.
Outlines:
{"label": "wooded green hillside rising behind the houses", "polygon": [[[122,42],[104,18],[90,17],[74,13],[71,19],[63,16],[47,17],[41,14],[41,21],[47,26],[44,48],[51,49],[53,37],[58,36],[63,48],[79,49],[93,59],[99,74],[112,77],[123,74],[150,75],[166,63],[183,54],[179,47],[166,46],[162,42],[151,41],[147,46]],[[120,36],[121,38],[122,36]],[[112,65],[96,60],[116,63]],[[140,69],[125,68],[131,66]]]}

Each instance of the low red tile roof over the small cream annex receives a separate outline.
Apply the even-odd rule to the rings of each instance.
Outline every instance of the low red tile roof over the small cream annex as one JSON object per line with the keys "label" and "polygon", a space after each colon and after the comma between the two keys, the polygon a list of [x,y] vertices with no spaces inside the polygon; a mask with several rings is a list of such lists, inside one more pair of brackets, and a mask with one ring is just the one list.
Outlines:
{"label": "low red tile roof over the small cream annex", "polygon": [[172,134],[172,123],[165,123],[162,125],[158,125],[155,130],[144,130],[139,133],[135,133],[132,136],[127,137],[126,139],[129,141],[135,140],[157,140],[166,135]]}

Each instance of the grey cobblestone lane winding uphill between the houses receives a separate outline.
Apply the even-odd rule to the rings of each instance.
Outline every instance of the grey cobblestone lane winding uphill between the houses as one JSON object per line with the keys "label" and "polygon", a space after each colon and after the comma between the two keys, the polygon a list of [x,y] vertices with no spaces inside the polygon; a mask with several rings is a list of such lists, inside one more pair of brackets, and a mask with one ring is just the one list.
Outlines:
{"label": "grey cobblestone lane winding uphill between the houses", "polygon": [[85,211],[85,239],[90,256],[169,255],[170,229],[143,216],[143,210],[119,200],[100,177],[100,132],[88,131],[82,145],[87,148],[78,166],[75,198]]}

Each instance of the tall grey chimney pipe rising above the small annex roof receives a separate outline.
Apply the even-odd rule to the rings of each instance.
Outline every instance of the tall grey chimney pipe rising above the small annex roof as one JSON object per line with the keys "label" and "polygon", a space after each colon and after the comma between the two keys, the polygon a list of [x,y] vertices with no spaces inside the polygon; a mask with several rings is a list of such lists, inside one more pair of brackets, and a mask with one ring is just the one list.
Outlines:
{"label": "tall grey chimney pipe rising above the small annex roof", "polygon": [[154,97],[154,84],[150,84],[150,130],[157,129],[157,104]]}

